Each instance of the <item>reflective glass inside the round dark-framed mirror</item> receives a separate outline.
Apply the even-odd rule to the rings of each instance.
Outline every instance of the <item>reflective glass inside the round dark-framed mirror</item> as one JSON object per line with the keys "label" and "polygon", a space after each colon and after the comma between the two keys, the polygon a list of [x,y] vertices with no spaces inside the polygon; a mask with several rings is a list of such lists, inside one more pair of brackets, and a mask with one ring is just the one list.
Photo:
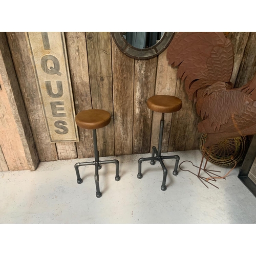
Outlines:
{"label": "reflective glass inside the round dark-framed mirror", "polygon": [[156,45],[165,32],[122,32],[123,38],[133,47],[146,49]]}

